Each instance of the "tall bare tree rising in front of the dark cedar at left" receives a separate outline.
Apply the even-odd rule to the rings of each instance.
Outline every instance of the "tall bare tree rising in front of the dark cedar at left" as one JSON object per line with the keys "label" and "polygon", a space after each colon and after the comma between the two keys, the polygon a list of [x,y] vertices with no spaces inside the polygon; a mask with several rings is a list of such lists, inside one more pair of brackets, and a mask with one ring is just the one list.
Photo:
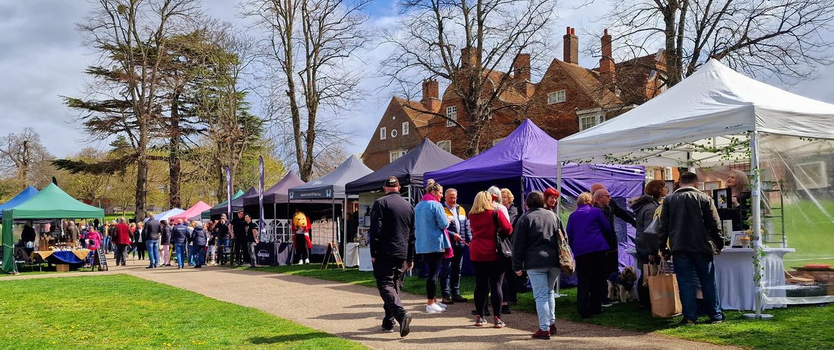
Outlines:
{"label": "tall bare tree rising in front of the dark cedar at left", "polygon": [[[165,110],[164,65],[170,62],[168,41],[186,32],[197,18],[197,0],[98,0],[78,28],[86,44],[100,54],[98,65],[88,67],[95,79],[88,98],[65,97],[88,133],[127,136],[133,152],[121,167],[136,164],[136,215],[144,218],[148,196],[148,148],[153,145]],[[162,160],[166,158],[161,158]],[[60,166],[60,164],[58,164]],[[66,164],[65,164],[66,165]]]}

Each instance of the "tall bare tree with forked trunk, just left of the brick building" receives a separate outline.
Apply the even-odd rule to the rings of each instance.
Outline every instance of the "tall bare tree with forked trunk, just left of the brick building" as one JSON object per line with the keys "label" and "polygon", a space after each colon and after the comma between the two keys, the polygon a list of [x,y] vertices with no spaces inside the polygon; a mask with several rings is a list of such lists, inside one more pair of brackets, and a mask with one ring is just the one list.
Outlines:
{"label": "tall bare tree with forked trunk, just left of the brick building", "polygon": [[[308,181],[315,156],[346,141],[339,114],[359,101],[364,72],[349,67],[370,43],[362,13],[369,0],[251,0],[244,13],[266,34],[262,52],[268,111],[279,129],[279,140]],[[273,71],[270,71],[273,72]],[[279,77],[279,78],[274,78]],[[281,146],[281,144],[279,144]]]}

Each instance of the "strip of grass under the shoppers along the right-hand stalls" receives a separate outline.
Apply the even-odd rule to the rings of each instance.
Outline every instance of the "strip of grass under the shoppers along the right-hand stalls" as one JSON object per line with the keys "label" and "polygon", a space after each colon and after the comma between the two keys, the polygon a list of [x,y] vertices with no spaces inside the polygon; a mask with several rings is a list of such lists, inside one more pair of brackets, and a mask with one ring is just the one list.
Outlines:
{"label": "strip of grass under the shoppers along the right-hand stalls", "polygon": [[[330,281],[359,284],[375,287],[371,273],[360,272],[356,268],[346,271],[320,270],[319,265],[282,266],[257,268],[259,271],[285,273],[289,275],[319,278]],[[404,291],[414,294],[425,293],[425,279],[405,278]],[[461,289],[464,297],[473,298],[475,279],[463,277]],[[637,308],[636,303],[615,305],[605,313],[590,319],[582,319],[576,313],[575,288],[562,289],[565,297],[556,299],[558,318],[575,322],[594,323],[615,328],[630,329],[646,333],[660,333],[676,338],[685,338],[716,344],[732,344],[747,348],[762,349],[830,349],[834,347],[834,305],[792,307],[769,310],[774,316],[770,321],[751,321],[742,318],[741,312],[727,311],[727,322],[711,325],[698,324],[691,327],[679,327],[681,317],[651,318],[651,313]],[[381,302],[380,302],[381,303]],[[527,313],[535,313],[532,293],[519,294],[519,305],[513,308]],[[507,317],[512,319],[512,315]]]}

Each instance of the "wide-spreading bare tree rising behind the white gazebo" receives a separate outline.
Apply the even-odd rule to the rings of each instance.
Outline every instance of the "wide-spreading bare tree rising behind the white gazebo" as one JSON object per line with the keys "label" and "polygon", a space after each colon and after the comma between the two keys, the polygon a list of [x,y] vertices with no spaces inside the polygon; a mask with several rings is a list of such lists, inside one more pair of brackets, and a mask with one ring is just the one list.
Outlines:
{"label": "wide-spreading bare tree rising behind the white gazebo", "polygon": [[710,58],[783,80],[832,62],[830,0],[617,0],[611,8],[604,22],[618,33],[620,52],[664,48],[668,87]]}

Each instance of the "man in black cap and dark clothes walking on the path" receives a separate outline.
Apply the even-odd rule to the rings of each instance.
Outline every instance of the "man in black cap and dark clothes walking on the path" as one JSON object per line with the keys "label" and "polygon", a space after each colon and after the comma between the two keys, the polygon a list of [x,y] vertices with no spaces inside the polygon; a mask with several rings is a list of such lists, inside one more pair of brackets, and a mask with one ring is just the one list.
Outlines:
{"label": "man in black cap and dark clothes walking on the path", "polygon": [[384,303],[382,330],[393,332],[396,321],[399,336],[405,337],[410,332],[411,314],[403,308],[399,291],[405,272],[414,267],[414,208],[399,195],[397,178],[388,178],[383,190],[385,195],[374,202],[370,213],[370,256]]}

